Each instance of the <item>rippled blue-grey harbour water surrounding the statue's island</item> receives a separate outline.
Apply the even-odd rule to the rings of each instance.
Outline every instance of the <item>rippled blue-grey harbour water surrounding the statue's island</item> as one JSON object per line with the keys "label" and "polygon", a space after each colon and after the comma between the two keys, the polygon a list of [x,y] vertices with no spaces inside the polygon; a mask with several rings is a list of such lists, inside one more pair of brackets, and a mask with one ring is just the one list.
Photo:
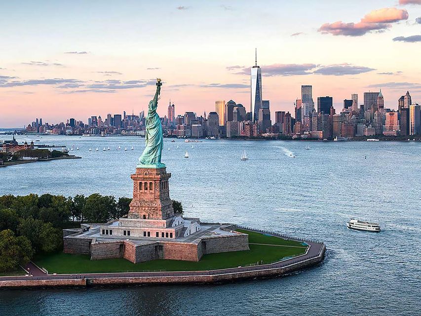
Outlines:
{"label": "rippled blue-grey harbour water surrounding the statue's island", "polygon": [[[0,195],[131,195],[142,139],[39,139],[75,145],[82,159],[0,168]],[[187,216],[323,240],[325,262],[223,285],[2,290],[0,315],[421,314],[421,143],[164,142],[171,197]],[[244,149],[249,160],[240,161]],[[350,217],[382,232],[347,230]]]}

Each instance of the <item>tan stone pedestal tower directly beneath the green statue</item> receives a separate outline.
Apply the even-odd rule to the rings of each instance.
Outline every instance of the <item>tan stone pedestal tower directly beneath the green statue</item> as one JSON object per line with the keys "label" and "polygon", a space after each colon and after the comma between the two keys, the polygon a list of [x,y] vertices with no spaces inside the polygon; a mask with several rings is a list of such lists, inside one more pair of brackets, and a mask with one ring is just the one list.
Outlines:
{"label": "tan stone pedestal tower directly beneath the green statue", "polygon": [[128,218],[166,220],[174,216],[166,168],[136,168]]}

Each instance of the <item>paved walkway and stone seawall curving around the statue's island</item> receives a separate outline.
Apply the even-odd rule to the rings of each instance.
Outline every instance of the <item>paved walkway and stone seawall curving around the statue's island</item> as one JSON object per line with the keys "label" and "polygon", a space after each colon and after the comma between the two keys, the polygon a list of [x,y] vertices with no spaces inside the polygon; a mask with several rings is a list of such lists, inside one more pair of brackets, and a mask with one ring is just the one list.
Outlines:
{"label": "paved walkway and stone seawall curving around the statue's island", "polygon": [[3,276],[1,288],[39,287],[88,287],[113,286],[123,284],[220,284],[250,278],[269,278],[291,274],[292,272],[316,266],[323,262],[326,246],[323,242],[286,237],[272,232],[251,228],[251,232],[268,234],[273,237],[305,241],[309,246],[305,254],[280,260],[271,264],[217,269],[208,271],[179,272],[138,272],[138,273],[89,273],[89,274],[44,274],[42,276]]}

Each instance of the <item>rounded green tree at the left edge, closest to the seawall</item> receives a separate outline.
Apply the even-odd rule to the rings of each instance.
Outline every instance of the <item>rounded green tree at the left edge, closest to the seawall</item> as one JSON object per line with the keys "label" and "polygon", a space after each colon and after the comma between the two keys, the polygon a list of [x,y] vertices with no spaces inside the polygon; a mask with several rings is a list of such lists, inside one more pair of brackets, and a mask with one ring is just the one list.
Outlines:
{"label": "rounded green tree at the left edge, closest to the seawall", "polygon": [[0,272],[13,271],[25,266],[34,252],[27,237],[15,237],[11,230],[0,231]]}

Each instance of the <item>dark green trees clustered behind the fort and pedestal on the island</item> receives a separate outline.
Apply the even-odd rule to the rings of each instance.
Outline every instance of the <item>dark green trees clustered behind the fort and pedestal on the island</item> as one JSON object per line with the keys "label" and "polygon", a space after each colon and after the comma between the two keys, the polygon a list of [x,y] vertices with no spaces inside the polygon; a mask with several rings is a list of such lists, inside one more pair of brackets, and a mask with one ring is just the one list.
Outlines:
{"label": "dark green trees clustered behind the fort and pedestal on the island", "polygon": [[[81,222],[105,223],[128,214],[131,198],[30,194],[0,196],[0,272],[26,265],[37,253],[55,252],[63,246],[63,228]],[[183,206],[173,201],[174,211]]]}

